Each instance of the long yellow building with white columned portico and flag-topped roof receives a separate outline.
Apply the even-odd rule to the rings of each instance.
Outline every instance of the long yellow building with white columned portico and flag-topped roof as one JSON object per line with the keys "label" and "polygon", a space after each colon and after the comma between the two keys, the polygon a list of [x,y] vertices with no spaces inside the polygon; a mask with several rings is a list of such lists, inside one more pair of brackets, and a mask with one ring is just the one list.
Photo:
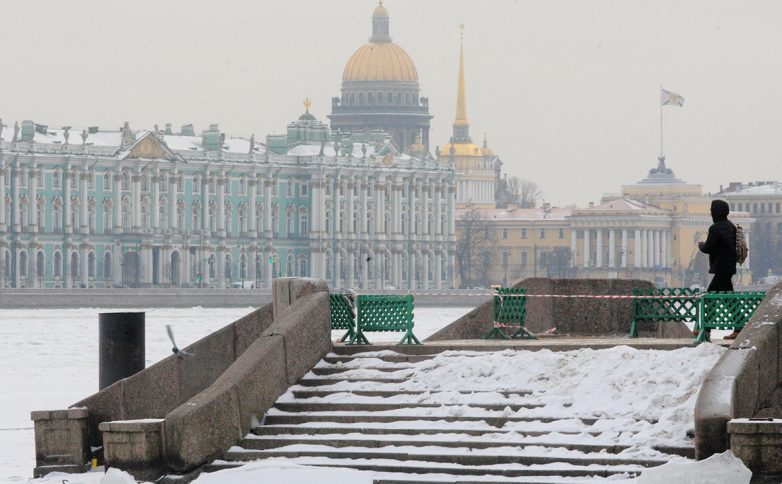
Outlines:
{"label": "long yellow building with white columned portico and flag-topped roof", "polygon": [[[646,178],[586,208],[457,211],[457,266],[464,286],[525,277],[637,278],[658,286],[706,286],[708,258],[698,251],[712,224],[712,197],[677,179],[661,161]],[[754,220],[736,211],[752,244]],[[753,264],[758,254],[752,255]],[[464,263],[470,264],[465,271]],[[749,259],[737,285],[751,282]]]}

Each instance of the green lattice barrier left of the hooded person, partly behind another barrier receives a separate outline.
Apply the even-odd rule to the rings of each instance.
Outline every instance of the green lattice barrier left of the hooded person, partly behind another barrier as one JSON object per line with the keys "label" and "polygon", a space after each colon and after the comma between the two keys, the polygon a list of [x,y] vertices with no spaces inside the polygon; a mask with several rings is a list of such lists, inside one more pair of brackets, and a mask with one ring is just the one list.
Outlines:
{"label": "green lattice barrier left of the hooded person, partly behind another barrier", "polygon": [[700,294],[697,289],[633,289],[633,296],[639,297],[633,299],[631,338],[638,337],[640,322],[686,321],[698,326]]}

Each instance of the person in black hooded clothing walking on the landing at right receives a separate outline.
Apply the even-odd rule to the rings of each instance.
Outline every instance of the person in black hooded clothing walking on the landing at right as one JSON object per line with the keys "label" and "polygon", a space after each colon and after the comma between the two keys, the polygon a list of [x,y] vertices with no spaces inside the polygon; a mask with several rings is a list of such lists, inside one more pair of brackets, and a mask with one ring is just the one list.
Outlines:
{"label": "person in black hooded clothing walking on the landing at right", "polygon": [[[709,273],[714,274],[707,292],[733,292],[733,275],[736,274],[736,226],[728,220],[730,206],[724,200],[712,200],[711,219],[706,242],[698,242],[698,249],[709,254]],[[726,336],[735,339],[739,332]]]}

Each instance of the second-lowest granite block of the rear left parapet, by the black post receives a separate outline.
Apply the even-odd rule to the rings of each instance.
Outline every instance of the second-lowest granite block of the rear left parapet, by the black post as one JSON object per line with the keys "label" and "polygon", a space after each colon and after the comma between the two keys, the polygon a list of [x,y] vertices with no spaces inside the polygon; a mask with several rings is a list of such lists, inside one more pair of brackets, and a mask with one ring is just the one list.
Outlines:
{"label": "second-lowest granite block of the rear left parapet, by the black post", "polygon": [[125,379],[123,419],[163,418],[179,404],[179,378],[175,356]]}

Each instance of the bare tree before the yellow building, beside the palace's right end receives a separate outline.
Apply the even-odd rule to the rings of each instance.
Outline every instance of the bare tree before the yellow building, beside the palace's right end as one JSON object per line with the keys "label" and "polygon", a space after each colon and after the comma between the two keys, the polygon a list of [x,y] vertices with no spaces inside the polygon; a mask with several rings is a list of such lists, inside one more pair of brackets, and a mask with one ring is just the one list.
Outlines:
{"label": "bare tree before the yellow building, beside the palace's right end", "polygon": [[496,234],[481,212],[470,209],[460,218],[456,260],[462,287],[489,284]]}

